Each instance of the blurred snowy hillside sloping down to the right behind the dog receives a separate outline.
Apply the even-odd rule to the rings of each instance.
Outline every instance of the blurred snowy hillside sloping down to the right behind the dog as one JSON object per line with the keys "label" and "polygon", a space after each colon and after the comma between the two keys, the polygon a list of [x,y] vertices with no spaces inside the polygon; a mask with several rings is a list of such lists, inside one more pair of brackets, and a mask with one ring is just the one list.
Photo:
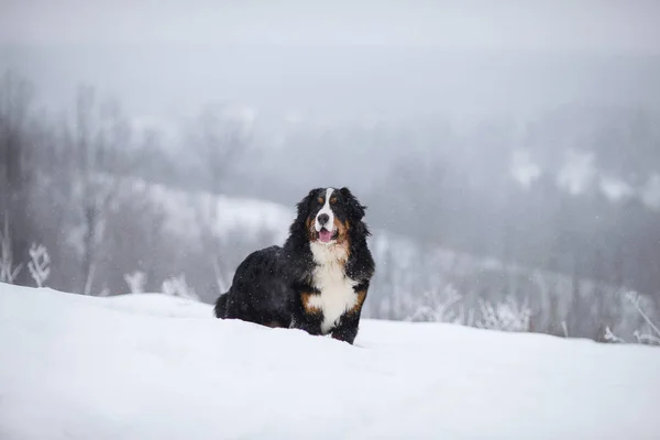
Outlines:
{"label": "blurred snowy hillside sloping down to the right behind the dog", "polygon": [[[112,182],[99,175],[99,183]],[[205,302],[229,288],[235,267],[245,256],[272,244],[282,244],[295,217],[289,206],[207,191],[187,191],[140,178],[122,178],[124,190],[107,212],[97,238],[94,283],[90,292],[134,292],[127,276],[140,272],[140,290],[163,290],[163,283],[185,278]],[[367,223],[371,226],[367,215]],[[43,243],[54,267],[48,285],[66,292],[86,288],[79,267],[85,258],[85,222],[51,224],[52,235],[67,237]],[[44,217],[44,223],[47,218]],[[364,308],[367,318],[442,321],[471,327],[525,329],[602,340],[609,328],[626,341],[650,330],[636,306],[626,299],[627,288],[572,275],[515,264],[495,257],[458,252],[443,243],[420,242],[413,237],[371,227],[370,249],[376,275]],[[64,231],[64,233],[62,233]],[[70,252],[74,250],[75,252]],[[25,264],[25,262],[24,262]],[[652,321],[660,309],[648,293],[639,293],[640,307]],[[488,310],[502,309],[515,326],[493,324]],[[486,314],[484,314],[484,310]],[[493,314],[491,314],[493,315]],[[496,319],[495,321],[502,321]]]}

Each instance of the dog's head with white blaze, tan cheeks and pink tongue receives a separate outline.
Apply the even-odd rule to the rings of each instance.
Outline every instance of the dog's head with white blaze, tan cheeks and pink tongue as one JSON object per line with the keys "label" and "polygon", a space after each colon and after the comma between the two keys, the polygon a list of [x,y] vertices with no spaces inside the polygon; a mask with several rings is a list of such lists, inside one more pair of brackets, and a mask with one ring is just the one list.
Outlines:
{"label": "dog's head with white blaze, tan cheeks and pink tongue", "polygon": [[365,206],[349,188],[316,188],[297,206],[297,222],[304,223],[310,241],[336,244],[346,243],[349,230],[358,228]]}

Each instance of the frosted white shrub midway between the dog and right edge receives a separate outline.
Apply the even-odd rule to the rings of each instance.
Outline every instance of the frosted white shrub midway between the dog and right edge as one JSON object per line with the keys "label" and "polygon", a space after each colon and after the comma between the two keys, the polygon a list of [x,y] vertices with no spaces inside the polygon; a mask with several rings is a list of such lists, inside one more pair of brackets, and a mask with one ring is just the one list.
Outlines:
{"label": "frosted white shrub midway between the dog and right edge", "polygon": [[483,299],[480,299],[479,304],[482,316],[476,327],[502,331],[529,331],[531,309],[527,301],[518,305],[513,297],[508,297],[496,305]]}

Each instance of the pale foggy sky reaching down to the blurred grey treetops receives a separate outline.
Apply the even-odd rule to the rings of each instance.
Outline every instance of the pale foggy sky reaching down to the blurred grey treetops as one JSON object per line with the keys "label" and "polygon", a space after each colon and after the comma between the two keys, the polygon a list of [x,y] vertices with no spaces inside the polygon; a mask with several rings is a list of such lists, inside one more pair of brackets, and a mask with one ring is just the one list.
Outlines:
{"label": "pale foggy sky reaching down to the blurred grey treetops", "polygon": [[213,102],[307,125],[653,108],[659,18],[639,0],[0,0],[0,70],[53,109],[91,84],[162,130]]}

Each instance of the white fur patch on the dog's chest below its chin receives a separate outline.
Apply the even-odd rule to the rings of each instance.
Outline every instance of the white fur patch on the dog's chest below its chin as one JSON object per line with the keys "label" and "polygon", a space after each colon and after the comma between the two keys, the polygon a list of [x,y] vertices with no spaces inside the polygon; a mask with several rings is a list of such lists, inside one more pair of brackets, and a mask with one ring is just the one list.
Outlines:
{"label": "white fur patch on the dog's chest below its chin", "polygon": [[311,253],[318,264],[314,271],[314,285],[319,295],[309,298],[309,306],[323,312],[321,331],[328,332],[334,327],[339,317],[358,304],[358,295],[353,290],[356,285],[344,273],[345,249],[338,245],[311,243]]}

